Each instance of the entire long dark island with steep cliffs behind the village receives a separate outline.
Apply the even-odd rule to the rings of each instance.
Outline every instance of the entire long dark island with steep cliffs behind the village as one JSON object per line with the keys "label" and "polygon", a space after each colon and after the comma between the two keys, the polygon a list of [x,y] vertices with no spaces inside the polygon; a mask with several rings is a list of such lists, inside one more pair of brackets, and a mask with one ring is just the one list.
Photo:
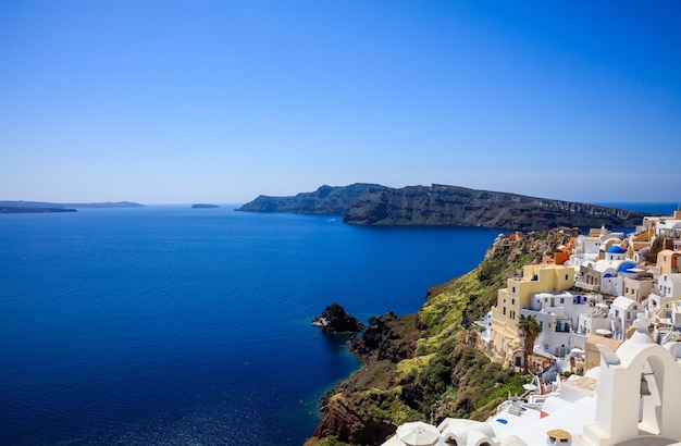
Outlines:
{"label": "entire long dark island with steep cliffs behind the village", "polygon": [[321,186],[293,197],[261,195],[237,211],[343,215],[358,225],[483,226],[543,231],[568,227],[628,227],[643,212],[524,195],[432,185],[392,188],[357,183]]}

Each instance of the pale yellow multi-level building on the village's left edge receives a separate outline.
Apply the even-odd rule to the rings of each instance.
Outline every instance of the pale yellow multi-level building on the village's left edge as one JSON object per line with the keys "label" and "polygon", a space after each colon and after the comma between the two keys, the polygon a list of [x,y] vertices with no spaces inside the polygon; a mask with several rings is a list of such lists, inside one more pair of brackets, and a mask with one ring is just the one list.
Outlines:
{"label": "pale yellow multi-level building on the village's left edge", "polygon": [[528,264],[522,277],[508,278],[506,288],[497,292],[496,306],[492,308],[490,349],[495,361],[515,366],[522,357],[518,337],[518,318],[521,308],[530,307],[536,293],[559,293],[574,286],[575,269],[572,265],[554,263]]}

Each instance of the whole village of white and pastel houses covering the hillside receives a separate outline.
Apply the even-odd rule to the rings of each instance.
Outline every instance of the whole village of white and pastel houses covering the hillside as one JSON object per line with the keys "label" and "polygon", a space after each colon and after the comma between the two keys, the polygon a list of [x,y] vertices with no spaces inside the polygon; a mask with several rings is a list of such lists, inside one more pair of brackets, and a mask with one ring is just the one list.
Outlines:
{"label": "whole village of white and pastel houses covering the hillside", "polygon": [[478,325],[487,356],[532,373],[527,392],[484,422],[405,423],[384,446],[681,445],[680,259],[677,210],[632,234],[591,230],[525,265]]}

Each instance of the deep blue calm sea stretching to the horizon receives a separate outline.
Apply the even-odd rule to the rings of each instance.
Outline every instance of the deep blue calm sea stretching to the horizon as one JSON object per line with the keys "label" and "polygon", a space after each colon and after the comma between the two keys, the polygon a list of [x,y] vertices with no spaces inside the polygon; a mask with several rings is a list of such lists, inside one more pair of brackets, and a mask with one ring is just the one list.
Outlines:
{"label": "deep blue calm sea stretching to the horizon", "polygon": [[312,319],[416,312],[500,232],[237,207],[0,214],[1,445],[301,445],[359,366]]}

